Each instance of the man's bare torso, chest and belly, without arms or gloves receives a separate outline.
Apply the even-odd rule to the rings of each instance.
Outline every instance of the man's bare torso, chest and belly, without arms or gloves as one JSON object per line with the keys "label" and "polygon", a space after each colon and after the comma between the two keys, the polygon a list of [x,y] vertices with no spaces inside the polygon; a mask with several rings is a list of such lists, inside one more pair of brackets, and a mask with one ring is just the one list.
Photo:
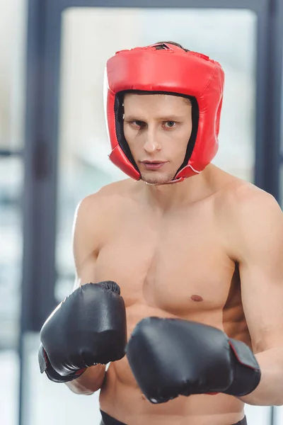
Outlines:
{"label": "man's bare torso, chest and belly, without arms or gloves", "polygon": [[[120,285],[128,337],[144,317],[178,317],[212,325],[250,345],[238,263],[225,243],[226,189],[218,191],[216,185],[210,196],[161,214],[142,203],[133,184],[123,181],[120,195],[116,187],[112,198],[105,198],[107,230],[96,259],[96,282]],[[110,364],[100,407],[129,425],[229,425],[243,418],[243,403],[224,394],[151,404],[137,387],[126,357]]]}

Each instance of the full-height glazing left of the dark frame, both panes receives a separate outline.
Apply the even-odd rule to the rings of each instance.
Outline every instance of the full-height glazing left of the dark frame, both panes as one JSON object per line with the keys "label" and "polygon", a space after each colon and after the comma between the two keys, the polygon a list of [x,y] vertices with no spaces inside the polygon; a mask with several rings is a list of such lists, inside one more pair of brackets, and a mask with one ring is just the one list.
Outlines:
{"label": "full-height glazing left of the dark frame, both panes", "polygon": [[[21,307],[25,0],[0,2],[0,385],[1,423],[18,423]],[[3,385],[4,382],[4,385]]]}

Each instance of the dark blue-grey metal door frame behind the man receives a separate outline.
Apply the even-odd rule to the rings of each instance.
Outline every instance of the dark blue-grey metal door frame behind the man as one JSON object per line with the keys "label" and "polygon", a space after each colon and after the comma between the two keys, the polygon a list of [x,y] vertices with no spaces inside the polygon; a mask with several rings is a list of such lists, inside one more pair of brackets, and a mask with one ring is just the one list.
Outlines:
{"label": "dark blue-grey metal door frame behind the man", "polygon": [[235,8],[258,16],[255,184],[279,198],[282,113],[282,0],[29,0],[23,197],[23,334],[39,331],[55,306],[59,65],[62,12],[70,7]]}

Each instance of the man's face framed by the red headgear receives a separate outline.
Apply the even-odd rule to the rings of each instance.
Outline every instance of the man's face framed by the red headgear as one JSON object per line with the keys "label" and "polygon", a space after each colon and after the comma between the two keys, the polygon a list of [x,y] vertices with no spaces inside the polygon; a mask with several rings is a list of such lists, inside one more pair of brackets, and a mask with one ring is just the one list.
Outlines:
{"label": "man's face framed by the red headgear", "polygon": [[126,94],[124,134],[146,183],[168,183],[185,159],[192,106],[180,96]]}

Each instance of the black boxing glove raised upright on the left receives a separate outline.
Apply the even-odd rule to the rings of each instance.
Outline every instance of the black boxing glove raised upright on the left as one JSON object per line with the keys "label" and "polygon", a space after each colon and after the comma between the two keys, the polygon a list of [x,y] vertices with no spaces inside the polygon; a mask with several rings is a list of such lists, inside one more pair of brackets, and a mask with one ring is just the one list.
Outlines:
{"label": "black boxing glove raised upright on the left", "polygon": [[87,283],[74,290],[43,324],[40,341],[40,371],[54,382],[74,380],[89,366],[124,357],[126,312],[117,283]]}

